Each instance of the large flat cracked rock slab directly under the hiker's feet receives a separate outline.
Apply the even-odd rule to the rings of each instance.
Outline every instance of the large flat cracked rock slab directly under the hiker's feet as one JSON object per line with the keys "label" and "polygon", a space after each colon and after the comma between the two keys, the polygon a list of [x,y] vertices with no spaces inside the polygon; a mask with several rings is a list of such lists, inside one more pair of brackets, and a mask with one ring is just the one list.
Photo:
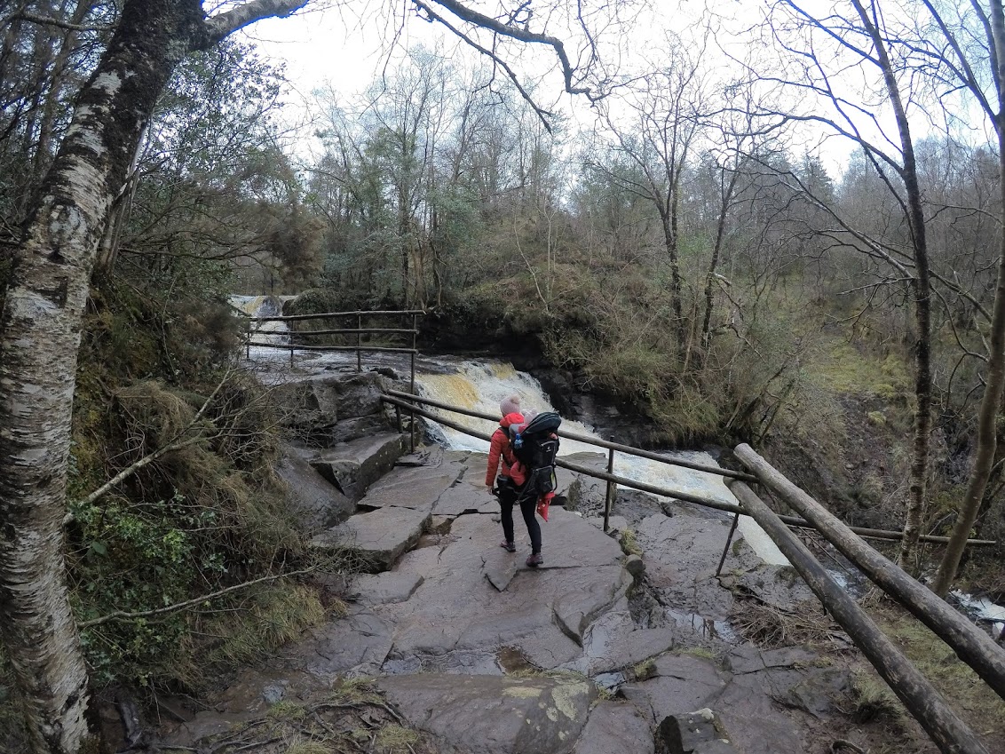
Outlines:
{"label": "large flat cracked rock slab directly under the hiker's feet", "polygon": [[[527,534],[517,521],[517,544]],[[582,653],[577,643],[586,616],[617,604],[631,583],[613,540],[562,509],[542,524],[546,567],[524,565],[524,552],[498,547],[501,527],[489,516],[461,516],[442,549],[406,555],[398,573],[424,576],[407,602],[382,607],[398,626],[396,651],[443,653],[454,649],[519,646],[542,668],[557,668]],[[525,550],[526,552],[526,550]],[[506,582],[502,568],[513,563]],[[493,572],[493,582],[486,577]],[[497,584],[494,580],[497,580]],[[496,586],[506,582],[505,590]],[[564,630],[559,627],[564,621]],[[576,638],[573,638],[576,637]]]}

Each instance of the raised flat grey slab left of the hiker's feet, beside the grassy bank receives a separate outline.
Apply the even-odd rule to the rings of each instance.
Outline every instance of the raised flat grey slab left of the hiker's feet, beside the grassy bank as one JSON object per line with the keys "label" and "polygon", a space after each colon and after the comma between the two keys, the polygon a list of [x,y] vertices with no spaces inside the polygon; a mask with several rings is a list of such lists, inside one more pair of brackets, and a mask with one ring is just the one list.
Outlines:
{"label": "raised flat grey slab left of the hiker's feet, beside the grassy bank", "polygon": [[357,558],[361,570],[378,573],[388,570],[402,553],[415,546],[429,518],[423,511],[394,507],[356,514],[315,536],[311,547],[341,551]]}

